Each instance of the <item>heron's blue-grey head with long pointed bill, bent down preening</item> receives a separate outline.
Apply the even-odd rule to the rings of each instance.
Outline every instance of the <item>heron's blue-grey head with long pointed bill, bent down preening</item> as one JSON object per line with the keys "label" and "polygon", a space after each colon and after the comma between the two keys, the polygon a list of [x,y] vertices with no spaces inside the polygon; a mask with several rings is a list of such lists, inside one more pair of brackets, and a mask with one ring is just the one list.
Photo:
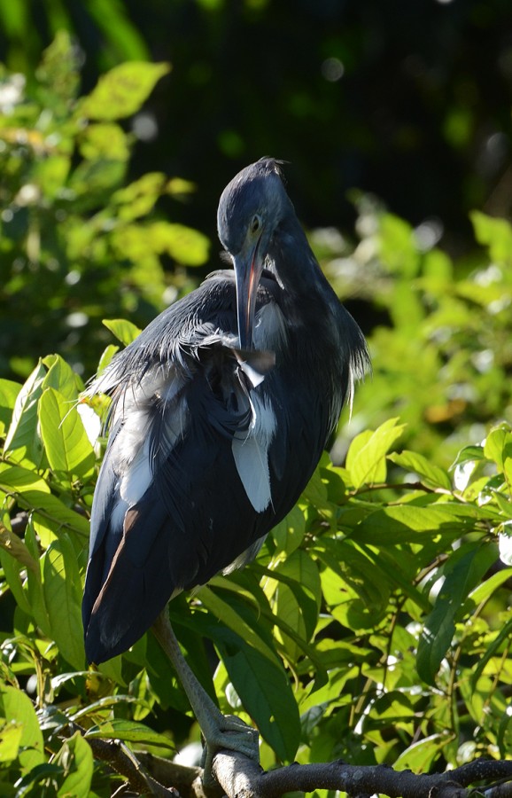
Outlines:
{"label": "heron's blue-grey head with long pointed bill, bent down preening", "polygon": [[280,161],[261,158],[244,168],[221,194],[217,229],[229,252],[237,280],[240,348],[252,348],[256,294],[268,246],[291,202],[284,190]]}

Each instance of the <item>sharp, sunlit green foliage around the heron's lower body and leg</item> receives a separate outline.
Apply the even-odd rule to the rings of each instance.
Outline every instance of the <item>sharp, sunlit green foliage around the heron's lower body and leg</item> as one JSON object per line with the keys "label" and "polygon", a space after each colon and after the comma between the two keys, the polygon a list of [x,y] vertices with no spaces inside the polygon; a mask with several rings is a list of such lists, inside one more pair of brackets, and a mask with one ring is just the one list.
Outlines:
{"label": "sharp, sunlit green foliage around the heron's lower body and leg", "polygon": [[[15,608],[1,646],[0,774],[34,789],[76,778],[86,795],[88,738],[165,753],[182,743],[183,726],[175,731],[162,710],[182,713],[186,701],[151,635],[86,671],[81,577],[95,453],[80,387],[58,356],[45,358],[6,429],[0,561]],[[439,759],[507,754],[512,567],[498,549],[512,562],[512,430],[496,426],[450,473],[392,451],[403,433],[391,420],[356,436],[345,467],[325,456],[252,567],[215,577],[187,613],[185,599],[171,605],[221,708],[258,725],[265,764],[341,756],[421,771]],[[213,682],[204,639],[221,655]],[[85,741],[58,741],[74,722],[89,730]]]}

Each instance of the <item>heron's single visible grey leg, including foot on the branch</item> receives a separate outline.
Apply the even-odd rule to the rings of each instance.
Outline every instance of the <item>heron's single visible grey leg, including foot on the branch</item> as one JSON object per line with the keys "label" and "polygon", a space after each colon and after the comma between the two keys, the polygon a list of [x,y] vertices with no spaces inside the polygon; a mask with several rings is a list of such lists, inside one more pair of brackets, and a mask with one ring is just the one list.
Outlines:
{"label": "heron's single visible grey leg, including foot on the branch", "polygon": [[205,689],[199,684],[190,666],[185,661],[175,632],[169,621],[167,607],[159,614],[153,624],[153,632],[162,646],[167,657],[172,662],[176,674],[187,693],[190,707],[205,738],[203,752],[203,767],[206,781],[213,779],[213,756],[222,749],[237,751],[249,756],[256,762],[260,761],[259,735],[251,726],[244,724],[240,718],[232,715],[222,715],[221,710],[213,703]]}

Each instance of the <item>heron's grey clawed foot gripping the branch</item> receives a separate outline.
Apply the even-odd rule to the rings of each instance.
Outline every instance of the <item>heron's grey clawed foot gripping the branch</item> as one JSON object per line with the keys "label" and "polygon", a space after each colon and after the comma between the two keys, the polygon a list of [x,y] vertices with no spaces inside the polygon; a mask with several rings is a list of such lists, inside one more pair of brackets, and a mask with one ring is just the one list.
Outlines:
{"label": "heron's grey clawed foot gripping the branch", "polygon": [[212,774],[213,757],[222,750],[235,751],[260,762],[260,735],[239,717],[222,715],[219,723],[208,729],[205,736],[202,765],[206,786],[216,784]]}

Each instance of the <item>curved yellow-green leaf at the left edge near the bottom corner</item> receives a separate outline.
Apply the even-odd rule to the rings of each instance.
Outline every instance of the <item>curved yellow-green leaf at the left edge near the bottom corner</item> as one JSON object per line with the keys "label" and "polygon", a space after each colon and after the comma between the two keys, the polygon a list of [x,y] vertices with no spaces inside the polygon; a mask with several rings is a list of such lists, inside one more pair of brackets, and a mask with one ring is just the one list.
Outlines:
{"label": "curved yellow-green leaf at the left edge near the bottom corner", "polygon": [[44,762],[43,732],[27,693],[0,682],[0,716],[21,726],[19,763],[23,772]]}

